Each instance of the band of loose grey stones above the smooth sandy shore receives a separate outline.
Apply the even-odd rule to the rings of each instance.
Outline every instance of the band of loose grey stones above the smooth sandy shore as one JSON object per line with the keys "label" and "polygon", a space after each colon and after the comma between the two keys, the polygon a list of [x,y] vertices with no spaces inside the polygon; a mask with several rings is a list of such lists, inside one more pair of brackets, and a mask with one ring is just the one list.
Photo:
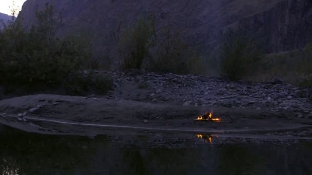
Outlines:
{"label": "band of loose grey stones above the smooth sandy shore", "polygon": [[279,79],[256,83],[140,71],[103,73],[111,75],[114,81],[114,91],[107,98],[183,106],[210,105],[288,111],[293,115],[290,117],[312,118],[312,101],[308,90],[283,83]]}

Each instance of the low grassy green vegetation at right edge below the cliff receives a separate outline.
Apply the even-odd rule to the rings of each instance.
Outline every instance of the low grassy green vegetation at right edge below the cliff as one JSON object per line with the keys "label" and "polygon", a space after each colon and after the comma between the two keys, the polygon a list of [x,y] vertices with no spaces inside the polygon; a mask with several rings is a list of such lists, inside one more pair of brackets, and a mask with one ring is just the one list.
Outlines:
{"label": "low grassy green vegetation at right edge below the cliff", "polygon": [[312,88],[312,45],[303,49],[273,53],[265,56],[258,64],[253,80],[271,81],[278,76],[285,82],[302,88]]}

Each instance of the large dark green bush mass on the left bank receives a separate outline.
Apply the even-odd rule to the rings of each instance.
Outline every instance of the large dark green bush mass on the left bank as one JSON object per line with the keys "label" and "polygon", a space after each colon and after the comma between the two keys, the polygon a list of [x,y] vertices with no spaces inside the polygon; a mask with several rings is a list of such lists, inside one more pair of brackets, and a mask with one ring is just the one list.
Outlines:
{"label": "large dark green bush mass on the left bank", "polygon": [[[15,87],[30,92],[58,89],[64,84],[70,86],[72,77],[69,75],[90,66],[87,38],[80,35],[56,37],[62,20],[54,18],[52,5],[47,4],[44,11],[36,12],[36,19],[30,29],[23,28],[21,21],[15,20],[0,32],[0,84],[7,92],[14,91]],[[100,91],[106,91],[110,85],[108,81],[96,80],[99,82],[90,79],[85,83],[95,83]]]}

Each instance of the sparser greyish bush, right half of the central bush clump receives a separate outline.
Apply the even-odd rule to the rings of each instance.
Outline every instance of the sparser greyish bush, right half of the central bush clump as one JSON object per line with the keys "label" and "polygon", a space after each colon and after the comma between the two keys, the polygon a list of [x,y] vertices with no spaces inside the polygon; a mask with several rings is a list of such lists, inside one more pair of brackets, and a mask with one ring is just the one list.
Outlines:
{"label": "sparser greyish bush, right half of the central bush clump", "polygon": [[155,72],[176,74],[198,73],[199,57],[197,53],[182,40],[181,31],[173,32],[172,27],[160,29],[157,43],[150,50],[149,69]]}

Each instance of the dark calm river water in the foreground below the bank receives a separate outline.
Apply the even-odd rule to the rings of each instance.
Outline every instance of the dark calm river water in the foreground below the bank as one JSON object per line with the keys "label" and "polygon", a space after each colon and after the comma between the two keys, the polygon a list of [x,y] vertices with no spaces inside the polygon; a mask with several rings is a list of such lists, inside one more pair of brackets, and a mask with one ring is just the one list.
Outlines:
{"label": "dark calm river water in the foreground below the bank", "polygon": [[108,136],[50,136],[0,126],[0,173],[312,174],[311,142],[148,148],[141,140],[124,147]]}

